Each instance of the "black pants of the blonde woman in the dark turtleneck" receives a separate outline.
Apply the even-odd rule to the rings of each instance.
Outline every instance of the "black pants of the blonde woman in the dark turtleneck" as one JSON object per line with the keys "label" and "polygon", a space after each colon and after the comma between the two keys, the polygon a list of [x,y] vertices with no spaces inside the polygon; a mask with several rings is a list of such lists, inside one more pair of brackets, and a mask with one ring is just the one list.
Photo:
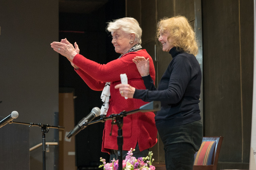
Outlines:
{"label": "black pants of the blonde woman in the dark turtleneck", "polygon": [[163,141],[166,170],[192,170],[195,152],[203,139],[201,121],[186,125],[157,127]]}

